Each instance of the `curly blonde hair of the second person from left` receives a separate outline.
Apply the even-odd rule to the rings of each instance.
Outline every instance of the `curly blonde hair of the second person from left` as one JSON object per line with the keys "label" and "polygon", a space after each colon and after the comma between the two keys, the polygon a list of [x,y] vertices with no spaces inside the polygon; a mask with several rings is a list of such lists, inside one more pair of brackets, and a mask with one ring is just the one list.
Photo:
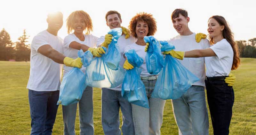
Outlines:
{"label": "curly blonde hair of the second person from left", "polygon": [[86,34],[90,34],[93,30],[93,26],[92,26],[92,19],[89,16],[88,13],[86,13],[85,11],[79,10],[79,11],[74,11],[72,12],[68,18],[67,18],[67,28],[68,28],[68,34],[70,32],[72,32],[74,30],[74,28],[72,27],[74,21],[75,21],[75,17],[76,16],[80,16],[83,18],[84,22],[85,22],[85,31]]}

